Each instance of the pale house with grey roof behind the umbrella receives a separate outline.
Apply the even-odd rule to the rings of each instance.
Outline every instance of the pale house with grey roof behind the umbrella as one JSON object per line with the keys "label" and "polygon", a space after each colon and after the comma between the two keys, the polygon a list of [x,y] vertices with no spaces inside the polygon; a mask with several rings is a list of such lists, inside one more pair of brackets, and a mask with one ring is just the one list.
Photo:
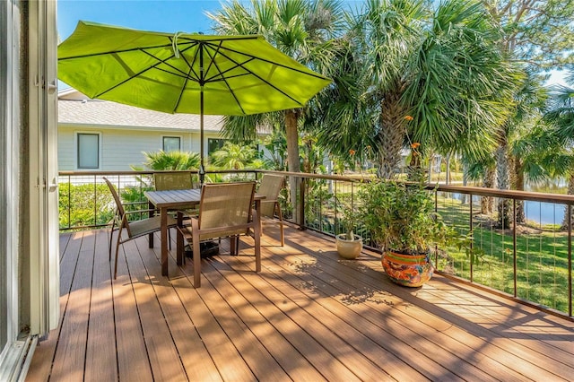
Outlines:
{"label": "pale house with grey roof behind the umbrella", "polygon": [[[58,169],[126,171],[143,152],[200,151],[200,117],[58,92]],[[221,147],[221,116],[204,116],[204,157]]]}

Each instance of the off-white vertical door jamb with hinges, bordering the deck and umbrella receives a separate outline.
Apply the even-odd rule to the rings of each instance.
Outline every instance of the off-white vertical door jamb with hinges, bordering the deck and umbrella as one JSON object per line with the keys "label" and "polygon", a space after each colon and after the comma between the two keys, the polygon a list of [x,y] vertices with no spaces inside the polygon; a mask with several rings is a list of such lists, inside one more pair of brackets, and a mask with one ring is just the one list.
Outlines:
{"label": "off-white vertical door jamb with hinges, bordering the deck and umbrella", "polygon": [[30,2],[30,334],[59,318],[56,2]]}

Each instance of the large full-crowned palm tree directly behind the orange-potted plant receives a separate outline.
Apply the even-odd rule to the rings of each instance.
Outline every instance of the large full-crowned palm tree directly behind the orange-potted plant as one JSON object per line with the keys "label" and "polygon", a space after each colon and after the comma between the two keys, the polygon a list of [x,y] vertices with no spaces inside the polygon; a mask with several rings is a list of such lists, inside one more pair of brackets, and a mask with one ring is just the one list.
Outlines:
{"label": "large full-crowned palm tree directly behind the orange-potted plant", "polygon": [[[484,155],[507,112],[516,74],[483,5],[450,0],[430,7],[424,0],[368,0],[349,21],[346,45],[339,45],[347,49],[336,62],[351,70],[331,75],[336,84],[350,82],[350,90],[337,88],[343,102],[323,103],[333,118],[320,129],[369,132],[370,139],[356,144],[372,146],[381,178],[394,177],[401,150],[412,143],[422,153]],[[354,81],[335,76],[349,72]]]}

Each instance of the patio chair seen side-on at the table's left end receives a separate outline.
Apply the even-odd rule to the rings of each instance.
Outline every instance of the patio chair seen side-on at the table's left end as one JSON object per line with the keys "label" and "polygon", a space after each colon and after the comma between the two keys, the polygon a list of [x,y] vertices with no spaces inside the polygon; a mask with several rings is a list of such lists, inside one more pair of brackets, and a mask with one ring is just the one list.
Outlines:
{"label": "patio chair seen side-on at the table's left end", "polygon": [[[150,213],[154,210],[138,210],[138,211],[128,211],[126,212],[124,205],[117,195],[116,188],[111,184],[108,178],[103,178],[108,184],[109,191],[111,195],[114,196],[114,201],[116,202],[116,213],[114,215],[114,220],[111,225],[111,230],[109,232],[109,261],[111,261],[111,245],[112,239],[114,238],[114,230],[117,232],[117,243],[116,243],[116,259],[114,264],[114,280],[117,277],[117,253],[119,251],[119,245],[124,244],[129,240],[139,238],[143,235],[147,235],[158,230],[161,230],[161,217],[153,216],[151,218],[146,218],[139,221],[129,221],[128,216],[133,213]],[[178,225],[177,221],[168,216],[168,229],[170,227],[176,227]],[[127,238],[122,239],[122,233],[126,232]]]}

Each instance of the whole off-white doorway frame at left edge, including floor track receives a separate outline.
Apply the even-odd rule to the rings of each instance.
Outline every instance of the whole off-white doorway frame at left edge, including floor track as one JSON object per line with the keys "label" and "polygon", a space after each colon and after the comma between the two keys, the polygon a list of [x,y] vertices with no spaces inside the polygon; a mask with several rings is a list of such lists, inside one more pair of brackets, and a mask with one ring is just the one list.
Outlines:
{"label": "whole off-white doorway frame at left edge, including floor track", "polygon": [[0,380],[15,381],[59,318],[56,0],[0,1],[0,35]]}

